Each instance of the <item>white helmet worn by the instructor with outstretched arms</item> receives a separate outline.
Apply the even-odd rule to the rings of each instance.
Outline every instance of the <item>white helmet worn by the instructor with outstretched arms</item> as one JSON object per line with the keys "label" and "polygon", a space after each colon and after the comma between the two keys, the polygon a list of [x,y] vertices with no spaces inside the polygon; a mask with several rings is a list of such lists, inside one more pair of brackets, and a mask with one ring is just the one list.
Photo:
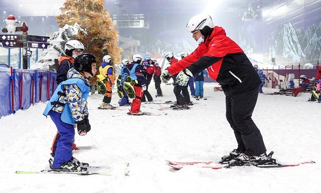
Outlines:
{"label": "white helmet worn by the instructor with outstretched arms", "polygon": [[195,30],[202,30],[205,26],[210,28],[214,27],[211,16],[209,15],[196,15],[190,19],[186,28],[188,32],[194,32]]}

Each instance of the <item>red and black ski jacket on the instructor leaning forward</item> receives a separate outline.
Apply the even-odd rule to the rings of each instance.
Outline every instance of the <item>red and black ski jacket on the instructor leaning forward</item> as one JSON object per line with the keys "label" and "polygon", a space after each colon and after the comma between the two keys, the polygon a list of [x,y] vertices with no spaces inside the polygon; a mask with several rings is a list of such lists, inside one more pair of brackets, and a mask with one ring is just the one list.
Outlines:
{"label": "red and black ski jacket on the instructor leaning forward", "polygon": [[191,55],[179,62],[171,61],[168,71],[174,75],[186,67],[193,75],[207,69],[223,89],[229,87],[229,93],[253,89],[261,83],[243,50],[218,26]]}

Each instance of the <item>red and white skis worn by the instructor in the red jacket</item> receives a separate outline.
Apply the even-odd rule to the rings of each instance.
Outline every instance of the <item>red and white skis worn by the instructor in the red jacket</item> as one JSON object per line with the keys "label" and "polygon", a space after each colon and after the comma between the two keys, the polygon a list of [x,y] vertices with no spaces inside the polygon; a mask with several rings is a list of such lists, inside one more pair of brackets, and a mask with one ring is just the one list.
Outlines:
{"label": "red and white skis worn by the instructor in the red jacket", "polygon": [[222,168],[232,168],[236,166],[255,166],[260,168],[276,168],[276,167],[293,167],[302,164],[315,163],[314,161],[306,161],[299,163],[291,164],[280,164],[277,163],[275,159],[271,158],[273,151],[269,153],[268,160],[265,162],[249,162],[249,163],[240,163],[237,160],[230,161],[192,161],[192,162],[177,162],[166,160],[167,164],[174,169],[182,169],[186,167],[198,167],[198,168],[210,168],[210,169],[222,169]]}

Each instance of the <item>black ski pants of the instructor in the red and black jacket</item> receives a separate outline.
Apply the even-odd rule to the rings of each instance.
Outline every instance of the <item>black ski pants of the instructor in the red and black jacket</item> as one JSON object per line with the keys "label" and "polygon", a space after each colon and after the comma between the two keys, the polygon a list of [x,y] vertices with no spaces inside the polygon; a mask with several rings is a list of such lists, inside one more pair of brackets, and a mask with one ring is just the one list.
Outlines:
{"label": "black ski pants of the instructor in the red and black jacket", "polygon": [[261,132],[251,118],[257,101],[258,87],[236,94],[231,94],[229,87],[223,90],[226,96],[226,119],[234,130],[237,150],[247,155],[265,153]]}

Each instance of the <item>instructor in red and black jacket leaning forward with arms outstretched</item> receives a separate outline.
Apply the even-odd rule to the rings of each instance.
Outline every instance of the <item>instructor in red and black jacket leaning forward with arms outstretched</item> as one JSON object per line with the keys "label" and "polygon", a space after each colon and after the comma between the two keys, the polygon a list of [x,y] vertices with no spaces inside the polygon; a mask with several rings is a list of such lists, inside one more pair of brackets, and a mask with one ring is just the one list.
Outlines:
{"label": "instructor in red and black jacket leaning forward with arms outstretched", "polygon": [[179,73],[176,82],[186,85],[194,75],[207,69],[209,76],[222,85],[226,96],[226,118],[230,123],[238,147],[223,159],[243,163],[266,162],[266,148],[260,130],[252,120],[261,80],[243,50],[226,36],[225,30],[213,25],[206,15],[194,16],[187,24],[188,32],[199,44],[181,61],[167,58],[171,66],[162,74],[167,82]]}

